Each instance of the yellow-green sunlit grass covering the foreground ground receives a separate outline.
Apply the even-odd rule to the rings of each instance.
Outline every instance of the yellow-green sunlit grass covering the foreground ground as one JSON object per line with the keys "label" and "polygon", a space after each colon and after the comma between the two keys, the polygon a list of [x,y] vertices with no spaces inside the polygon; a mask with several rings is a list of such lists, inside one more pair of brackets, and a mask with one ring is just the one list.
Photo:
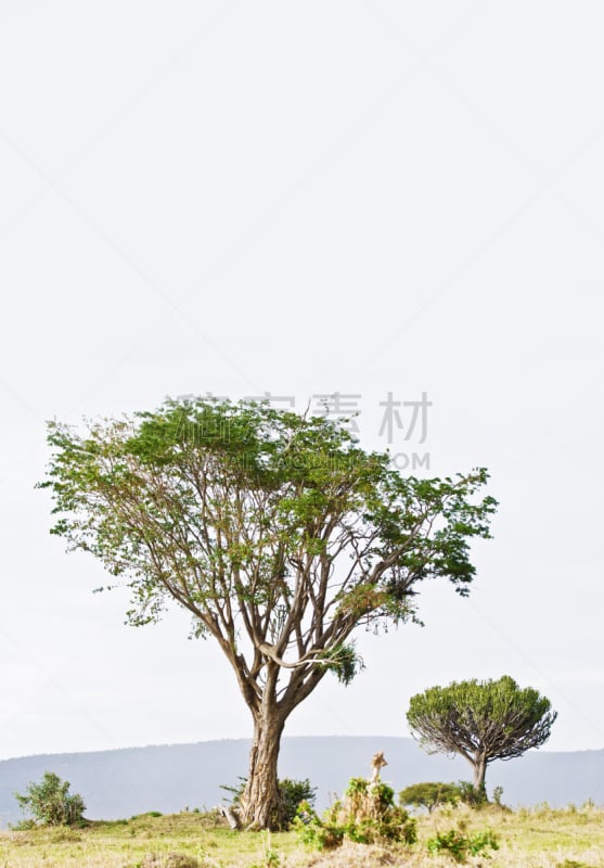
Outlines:
{"label": "yellow-green sunlit grass covering the foreground ground", "polygon": [[419,841],[404,851],[347,843],[327,853],[305,848],[293,832],[233,832],[217,815],[153,813],[82,829],[0,832],[0,868],[447,868],[426,842],[455,828],[472,835],[491,829],[500,848],[490,868],[604,868],[604,810],[592,805],[557,810],[541,805],[507,812],[445,807],[419,818]]}

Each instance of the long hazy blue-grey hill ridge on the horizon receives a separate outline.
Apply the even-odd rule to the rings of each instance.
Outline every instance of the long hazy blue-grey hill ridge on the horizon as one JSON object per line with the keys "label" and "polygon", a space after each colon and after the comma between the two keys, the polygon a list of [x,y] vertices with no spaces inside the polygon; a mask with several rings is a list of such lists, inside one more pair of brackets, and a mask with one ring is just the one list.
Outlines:
{"label": "long hazy blue-grey hill ridge on the horizon", "polygon": [[[118,819],[146,810],[176,813],[213,807],[224,800],[220,784],[236,783],[247,770],[248,739],[123,748],[90,753],[40,754],[0,761],[0,826],[21,819],[14,799],[46,770],[72,783],[92,819]],[[384,751],[383,779],[395,790],[425,780],[470,780],[460,757],[428,756],[413,739],[385,736],[308,736],[284,738],[282,778],[304,779],[318,787],[318,805],[342,793],[350,777],[369,775],[370,761]],[[530,751],[519,760],[493,763],[487,789],[503,787],[512,806],[549,802],[563,806],[593,800],[604,803],[604,750],[548,753]]]}

